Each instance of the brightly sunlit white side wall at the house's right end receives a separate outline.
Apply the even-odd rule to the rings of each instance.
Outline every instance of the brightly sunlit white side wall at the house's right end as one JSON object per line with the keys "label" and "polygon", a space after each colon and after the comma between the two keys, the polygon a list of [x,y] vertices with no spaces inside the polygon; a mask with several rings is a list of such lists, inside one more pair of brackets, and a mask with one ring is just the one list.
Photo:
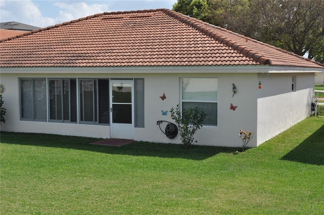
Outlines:
{"label": "brightly sunlit white side wall at the house's right end", "polygon": [[[296,91],[292,92],[292,77]],[[258,136],[260,145],[284,132],[310,115],[314,74],[258,74],[262,89],[258,90]]]}

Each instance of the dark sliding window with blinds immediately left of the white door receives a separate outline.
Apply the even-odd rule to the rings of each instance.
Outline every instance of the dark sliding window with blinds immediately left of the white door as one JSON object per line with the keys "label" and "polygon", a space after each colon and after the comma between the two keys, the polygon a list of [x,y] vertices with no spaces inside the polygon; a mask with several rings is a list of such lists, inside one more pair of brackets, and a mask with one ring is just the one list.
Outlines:
{"label": "dark sliding window with blinds immediately left of the white door", "polygon": [[109,124],[109,79],[79,80],[79,104],[80,122]]}

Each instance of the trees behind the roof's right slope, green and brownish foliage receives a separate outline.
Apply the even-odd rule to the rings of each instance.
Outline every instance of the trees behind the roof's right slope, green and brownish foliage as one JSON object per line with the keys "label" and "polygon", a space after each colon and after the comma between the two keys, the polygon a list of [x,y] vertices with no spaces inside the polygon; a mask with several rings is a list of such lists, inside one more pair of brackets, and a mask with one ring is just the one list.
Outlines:
{"label": "trees behind the roof's right slope, green and brownish foliage", "polygon": [[173,10],[324,63],[324,0],[178,0]]}

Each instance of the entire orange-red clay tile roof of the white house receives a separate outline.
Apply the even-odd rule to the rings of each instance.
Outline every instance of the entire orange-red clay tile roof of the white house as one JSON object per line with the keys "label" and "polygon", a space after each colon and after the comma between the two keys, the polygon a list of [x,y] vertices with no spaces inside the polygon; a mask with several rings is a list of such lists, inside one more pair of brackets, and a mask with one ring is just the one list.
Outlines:
{"label": "entire orange-red clay tile roof of the white house", "polygon": [[168,10],[96,14],[0,42],[1,67],[278,65],[301,56]]}

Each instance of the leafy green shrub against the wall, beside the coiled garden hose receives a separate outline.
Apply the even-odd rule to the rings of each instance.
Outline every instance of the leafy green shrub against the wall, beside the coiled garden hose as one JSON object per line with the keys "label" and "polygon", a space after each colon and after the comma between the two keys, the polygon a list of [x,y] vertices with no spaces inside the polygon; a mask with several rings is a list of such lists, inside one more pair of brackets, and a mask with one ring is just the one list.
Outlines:
{"label": "leafy green shrub against the wall, beside the coiled garden hose", "polygon": [[171,108],[170,112],[171,118],[175,120],[179,128],[182,144],[185,148],[188,148],[194,140],[193,136],[196,131],[203,127],[201,123],[207,114],[203,109],[198,107],[183,110],[181,114],[179,104],[176,108]]}

